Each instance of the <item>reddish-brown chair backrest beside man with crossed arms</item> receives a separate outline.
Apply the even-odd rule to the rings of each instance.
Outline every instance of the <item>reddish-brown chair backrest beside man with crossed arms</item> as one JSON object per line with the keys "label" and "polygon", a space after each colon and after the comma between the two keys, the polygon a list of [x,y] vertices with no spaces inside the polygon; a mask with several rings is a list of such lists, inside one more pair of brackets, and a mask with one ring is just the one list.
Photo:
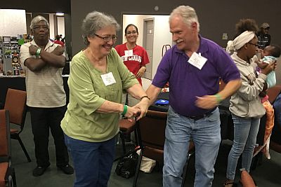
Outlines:
{"label": "reddish-brown chair backrest beside man with crossed arms", "polygon": [[26,99],[27,93],[25,91],[8,88],[4,109],[10,113],[10,122],[20,125],[21,129],[25,124]]}

